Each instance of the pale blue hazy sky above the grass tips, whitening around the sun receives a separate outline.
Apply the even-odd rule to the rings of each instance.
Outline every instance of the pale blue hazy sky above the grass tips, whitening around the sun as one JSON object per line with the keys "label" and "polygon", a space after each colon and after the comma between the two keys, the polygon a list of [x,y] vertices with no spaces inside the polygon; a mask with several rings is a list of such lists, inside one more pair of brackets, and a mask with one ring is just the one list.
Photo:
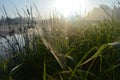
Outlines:
{"label": "pale blue hazy sky above the grass tips, whitening around the sun", "polygon": [[[7,11],[8,16],[10,17],[17,16],[17,11],[15,7],[21,14],[24,14],[23,9],[26,10],[26,8],[28,8],[30,5],[33,6],[33,3],[38,7],[41,16],[48,16],[49,13],[51,11],[54,11],[55,9],[61,10],[61,12],[63,12],[64,15],[68,15],[68,13],[71,12],[71,10],[68,9],[71,9],[73,6],[78,5],[76,4],[78,2],[82,3],[81,5],[82,9],[84,8],[84,11],[86,10],[87,12],[89,12],[94,7],[97,7],[100,4],[113,6],[113,4],[119,0],[74,0],[74,2],[76,1],[75,5],[73,5],[72,1],[73,0],[0,0],[0,16],[4,15],[3,5]],[[74,7],[73,9],[75,10],[76,7]],[[33,12],[34,15],[36,15],[35,7],[33,7]]]}

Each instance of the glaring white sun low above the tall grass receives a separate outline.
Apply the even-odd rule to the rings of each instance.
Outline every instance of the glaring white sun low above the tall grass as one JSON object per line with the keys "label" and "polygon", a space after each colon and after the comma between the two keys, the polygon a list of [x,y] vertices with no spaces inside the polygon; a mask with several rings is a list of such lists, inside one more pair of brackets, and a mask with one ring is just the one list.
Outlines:
{"label": "glaring white sun low above the tall grass", "polygon": [[75,13],[85,13],[84,0],[57,0],[54,7],[65,17],[74,15]]}

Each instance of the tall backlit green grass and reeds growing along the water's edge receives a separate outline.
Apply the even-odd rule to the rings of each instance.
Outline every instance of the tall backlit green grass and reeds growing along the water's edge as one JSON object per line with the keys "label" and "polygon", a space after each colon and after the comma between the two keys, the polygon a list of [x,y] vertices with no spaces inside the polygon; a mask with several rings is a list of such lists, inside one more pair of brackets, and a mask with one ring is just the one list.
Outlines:
{"label": "tall backlit green grass and reeds growing along the water's edge", "polygon": [[119,19],[53,15],[34,25],[30,9],[26,14],[22,47],[16,34],[8,34],[12,41],[0,35],[9,47],[0,56],[0,80],[120,80]]}

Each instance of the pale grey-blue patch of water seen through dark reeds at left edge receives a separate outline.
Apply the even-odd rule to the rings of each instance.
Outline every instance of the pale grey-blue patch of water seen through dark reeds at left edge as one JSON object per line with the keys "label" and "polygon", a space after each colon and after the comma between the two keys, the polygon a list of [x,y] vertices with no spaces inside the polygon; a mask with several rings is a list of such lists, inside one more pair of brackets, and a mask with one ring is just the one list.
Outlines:
{"label": "pale grey-blue patch of water seen through dark reeds at left edge", "polygon": [[0,55],[5,56],[9,53],[12,48],[18,50],[20,47],[21,49],[25,46],[25,40],[23,35],[15,34],[13,36],[5,36],[4,38],[0,38]]}

